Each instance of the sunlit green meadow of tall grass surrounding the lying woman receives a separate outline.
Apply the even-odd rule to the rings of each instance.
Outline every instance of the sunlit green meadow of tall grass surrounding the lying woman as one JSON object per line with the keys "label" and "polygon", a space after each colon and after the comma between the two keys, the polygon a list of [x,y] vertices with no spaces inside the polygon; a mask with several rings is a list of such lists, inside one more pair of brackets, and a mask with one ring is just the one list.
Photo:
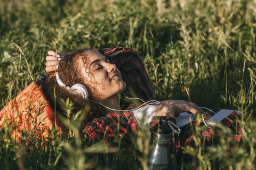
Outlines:
{"label": "sunlit green meadow of tall grass surrounding the lying woman", "polygon": [[[123,46],[140,54],[157,100],[245,114],[256,109],[255,35],[255,0],[0,0],[0,109],[46,74],[48,50]],[[255,169],[256,123],[250,117],[238,123],[244,129],[233,154],[226,153],[225,128],[218,147],[198,141],[183,151],[197,158],[197,169]],[[1,128],[0,169],[147,169],[143,130],[135,141],[142,155],[90,147],[81,130],[68,137],[52,130],[43,144],[26,146]],[[173,158],[173,169],[194,167]]]}

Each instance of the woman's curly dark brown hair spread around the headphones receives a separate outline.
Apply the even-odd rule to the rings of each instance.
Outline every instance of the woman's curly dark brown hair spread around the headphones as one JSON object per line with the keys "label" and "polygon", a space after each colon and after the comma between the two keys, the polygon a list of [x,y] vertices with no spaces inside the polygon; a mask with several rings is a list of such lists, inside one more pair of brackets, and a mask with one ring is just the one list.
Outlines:
{"label": "woman's curly dark brown hair spread around the headphones", "polygon": [[[98,101],[98,95],[95,94],[95,89],[89,88],[84,82],[81,74],[81,68],[79,68],[78,58],[82,57],[84,65],[89,63],[89,57],[87,56],[88,48],[79,48],[67,53],[61,58],[60,65],[58,67],[58,74],[63,83],[66,86],[72,87],[76,83],[84,84],[84,86],[89,91],[89,99]],[[93,76],[93,75],[91,75]],[[89,110],[86,113],[83,125],[87,124],[89,121],[96,117],[106,116],[106,111],[99,104],[93,103],[90,100],[83,99],[82,96],[73,94],[67,88],[59,86],[55,77],[52,77],[46,81],[46,87],[43,89],[45,97],[49,100],[51,106],[56,108],[56,110],[65,116],[65,111],[61,107],[61,99],[66,101],[69,98],[73,101],[73,113],[78,111]],[[92,93],[93,91],[93,93]]]}

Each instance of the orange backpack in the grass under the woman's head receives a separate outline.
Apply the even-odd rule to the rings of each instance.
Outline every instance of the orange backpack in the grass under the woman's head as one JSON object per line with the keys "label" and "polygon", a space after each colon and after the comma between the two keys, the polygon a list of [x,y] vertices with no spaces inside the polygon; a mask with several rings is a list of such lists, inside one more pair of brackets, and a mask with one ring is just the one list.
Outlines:
{"label": "orange backpack in the grass under the woman's head", "polygon": [[28,131],[29,140],[48,137],[48,129],[57,126],[57,135],[61,131],[60,121],[47,102],[42,90],[33,81],[19,95],[7,103],[0,111],[0,128],[10,128],[10,135],[17,142],[21,133]]}

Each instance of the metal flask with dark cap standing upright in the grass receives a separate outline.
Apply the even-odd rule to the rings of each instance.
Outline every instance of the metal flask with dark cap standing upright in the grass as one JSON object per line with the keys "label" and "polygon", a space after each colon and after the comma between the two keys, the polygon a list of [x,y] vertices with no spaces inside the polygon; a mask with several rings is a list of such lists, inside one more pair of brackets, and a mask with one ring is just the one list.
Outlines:
{"label": "metal flask with dark cap standing upright in the grass", "polygon": [[149,154],[148,167],[149,169],[170,169],[170,149],[168,148],[172,129],[167,121],[166,123],[155,126],[151,133],[151,142],[153,149]]}

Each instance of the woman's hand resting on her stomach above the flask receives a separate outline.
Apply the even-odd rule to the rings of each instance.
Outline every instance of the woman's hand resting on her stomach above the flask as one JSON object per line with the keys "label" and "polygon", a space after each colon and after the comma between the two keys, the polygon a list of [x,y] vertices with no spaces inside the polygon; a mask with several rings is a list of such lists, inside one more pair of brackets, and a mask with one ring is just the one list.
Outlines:
{"label": "woman's hand resting on her stomach above the flask", "polygon": [[178,117],[182,112],[203,113],[197,106],[182,100],[164,100],[156,107],[156,116]]}

